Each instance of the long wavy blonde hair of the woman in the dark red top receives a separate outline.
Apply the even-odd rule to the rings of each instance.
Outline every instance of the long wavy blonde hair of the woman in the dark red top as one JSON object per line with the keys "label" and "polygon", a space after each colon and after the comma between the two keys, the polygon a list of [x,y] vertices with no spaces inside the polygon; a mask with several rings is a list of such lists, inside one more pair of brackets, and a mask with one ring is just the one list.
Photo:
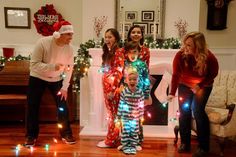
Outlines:
{"label": "long wavy blonde hair of the woman in the dark red top", "polygon": [[196,51],[195,59],[197,63],[194,69],[198,71],[199,75],[203,75],[207,68],[206,60],[208,56],[205,36],[201,32],[190,32],[184,37],[183,43],[185,43],[188,38],[193,40]]}

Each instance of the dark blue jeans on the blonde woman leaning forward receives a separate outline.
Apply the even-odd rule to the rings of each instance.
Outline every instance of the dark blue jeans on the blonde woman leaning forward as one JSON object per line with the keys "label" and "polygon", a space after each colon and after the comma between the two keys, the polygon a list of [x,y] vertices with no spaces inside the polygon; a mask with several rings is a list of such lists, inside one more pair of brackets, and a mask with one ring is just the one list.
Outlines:
{"label": "dark blue jeans on the blonde woman leaning forward", "polygon": [[179,85],[179,129],[182,144],[187,146],[191,144],[191,119],[193,113],[196,120],[199,148],[209,151],[210,126],[205,106],[211,90],[212,86],[201,88],[197,93],[193,93],[190,87],[183,84]]}

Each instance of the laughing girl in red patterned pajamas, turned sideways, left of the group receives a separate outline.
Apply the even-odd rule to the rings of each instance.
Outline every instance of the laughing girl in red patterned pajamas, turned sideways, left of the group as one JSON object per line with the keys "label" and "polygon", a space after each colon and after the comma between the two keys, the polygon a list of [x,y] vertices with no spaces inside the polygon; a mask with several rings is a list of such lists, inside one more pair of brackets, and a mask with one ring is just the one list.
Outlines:
{"label": "laughing girl in red patterned pajamas, turned sideways, left of the group", "polygon": [[119,32],[110,28],[105,32],[105,44],[102,54],[102,83],[105,105],[108,112],[108,133],[98,147],[116,147],[119,142],[119,128],[115,127],[115,118],[120,100],[120,81],[123,77],[124,54],[118,47]]}

